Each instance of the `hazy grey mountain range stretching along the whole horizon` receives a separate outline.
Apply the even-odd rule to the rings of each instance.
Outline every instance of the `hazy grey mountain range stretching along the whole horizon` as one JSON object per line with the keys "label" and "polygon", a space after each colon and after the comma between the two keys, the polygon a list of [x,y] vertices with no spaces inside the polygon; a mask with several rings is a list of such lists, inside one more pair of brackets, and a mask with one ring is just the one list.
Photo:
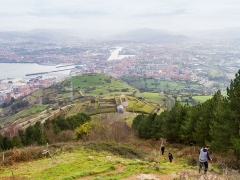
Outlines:
{"label": "hazy grey mountain range stretching along the whole horizon", "polygon": [[[90,32],[90,31],[89,31]],[[99,34],[100,33],[100,34]],[[92,36],[91,36],[92,34]],[[112,33],[113,34],[113,33]],[[123,42],[146,42],[146,43],[181,43],[191,38],[222,38],[236,39],[240,38],[240,27],[224,28],[215,30],[201,31],[182,31],[180,33],[170,32],[161,29],[141,28],[118,33],[115,35],[106,35],[104,32],[90,34],[84,30],[49,30],[35,29],[31,31],[4,31],[0,32],[0,40],[32,40],[32,41],[53,41],[66,39],[102,39],[110,41]]]}

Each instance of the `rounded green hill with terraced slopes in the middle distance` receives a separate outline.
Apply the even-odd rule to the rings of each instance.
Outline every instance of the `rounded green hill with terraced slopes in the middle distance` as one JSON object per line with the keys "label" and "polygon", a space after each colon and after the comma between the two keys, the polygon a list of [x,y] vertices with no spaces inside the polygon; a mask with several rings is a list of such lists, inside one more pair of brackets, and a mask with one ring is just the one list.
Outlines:
{"label": "rounded green hill with terraced slopes in the middle distance", "polygon": [[[72,89],[72,90],[71,90]],[[40,89],[31,95],[14,102],[12,105],[2,109],[0,125],[5,131],[9,126],[26,128],[37,121],[44,122],[48,118],[64,114],[66,117],[83,112],[89,115],[117,112],[117,104],[127,102],[125,112],[157,112],[161,104],[152,104],[139,100],[135,94],[139,91],[136,88],[123,83],[121,80],[110,77],[106,74],[84,74],[72,77],[62,83],[57,83],[48,88]],[[125,95],[120,97],[120,95]],[[40,100],[41,99],[41,100]],[[26,107],[21,102],[28,102]],[[159,100],[160,102],[160,100]],[[13,107],[14,108],[13,111]],[[129,115],[132,116],[132,115]],[[13,127],[12,127],[13,128]]]}

